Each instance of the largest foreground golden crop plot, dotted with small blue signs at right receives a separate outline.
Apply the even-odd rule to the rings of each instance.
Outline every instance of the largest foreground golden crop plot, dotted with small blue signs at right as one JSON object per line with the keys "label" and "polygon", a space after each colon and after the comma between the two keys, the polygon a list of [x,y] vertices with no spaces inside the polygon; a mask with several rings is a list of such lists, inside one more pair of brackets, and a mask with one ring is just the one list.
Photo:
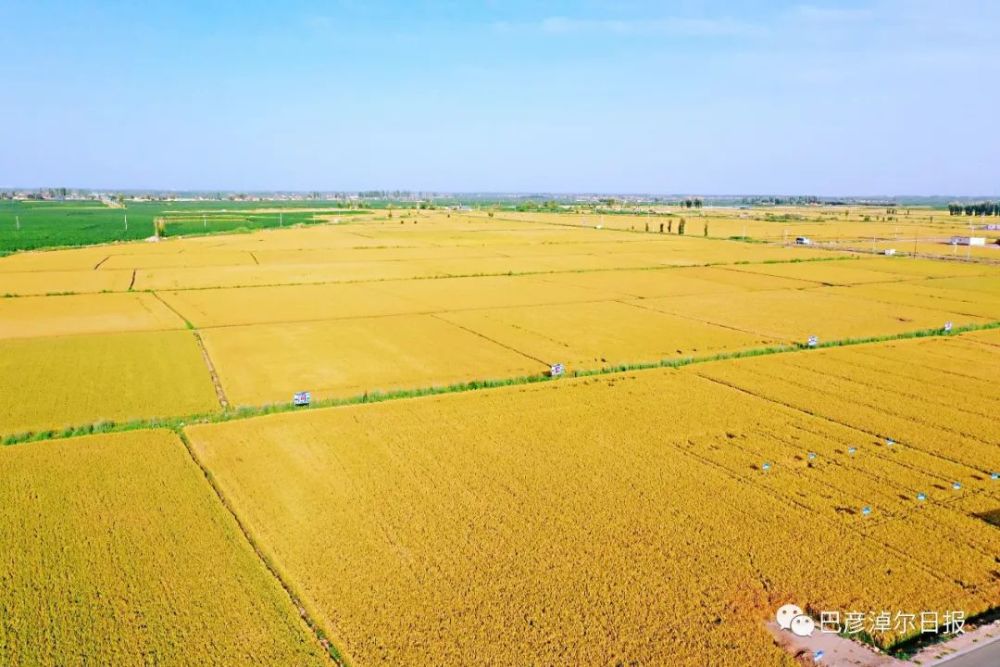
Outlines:
{"label": "largest foreground golden crop plot, dotted with small blue signs at right", "polygon": [[[906,353],[779,355],[187,432],[357,664],[771,664],[782,656],[759,623],[784,599],[971,615],[1000,596],[1000,535],[953,502],[1000,501],[1000,432],[975,421],[995,401],[893,391],[881,360]],[[789,364],[816,380],[801,408],[803,394],[771,393]],[[899,416],[838,402],[873,374],[885,386],[871,401]],[[906,386],[943,382],[981,388],[943,372]],[[916,414],[964,427],[908,426]],[[351,553],[327,560],[343,542]]]}

